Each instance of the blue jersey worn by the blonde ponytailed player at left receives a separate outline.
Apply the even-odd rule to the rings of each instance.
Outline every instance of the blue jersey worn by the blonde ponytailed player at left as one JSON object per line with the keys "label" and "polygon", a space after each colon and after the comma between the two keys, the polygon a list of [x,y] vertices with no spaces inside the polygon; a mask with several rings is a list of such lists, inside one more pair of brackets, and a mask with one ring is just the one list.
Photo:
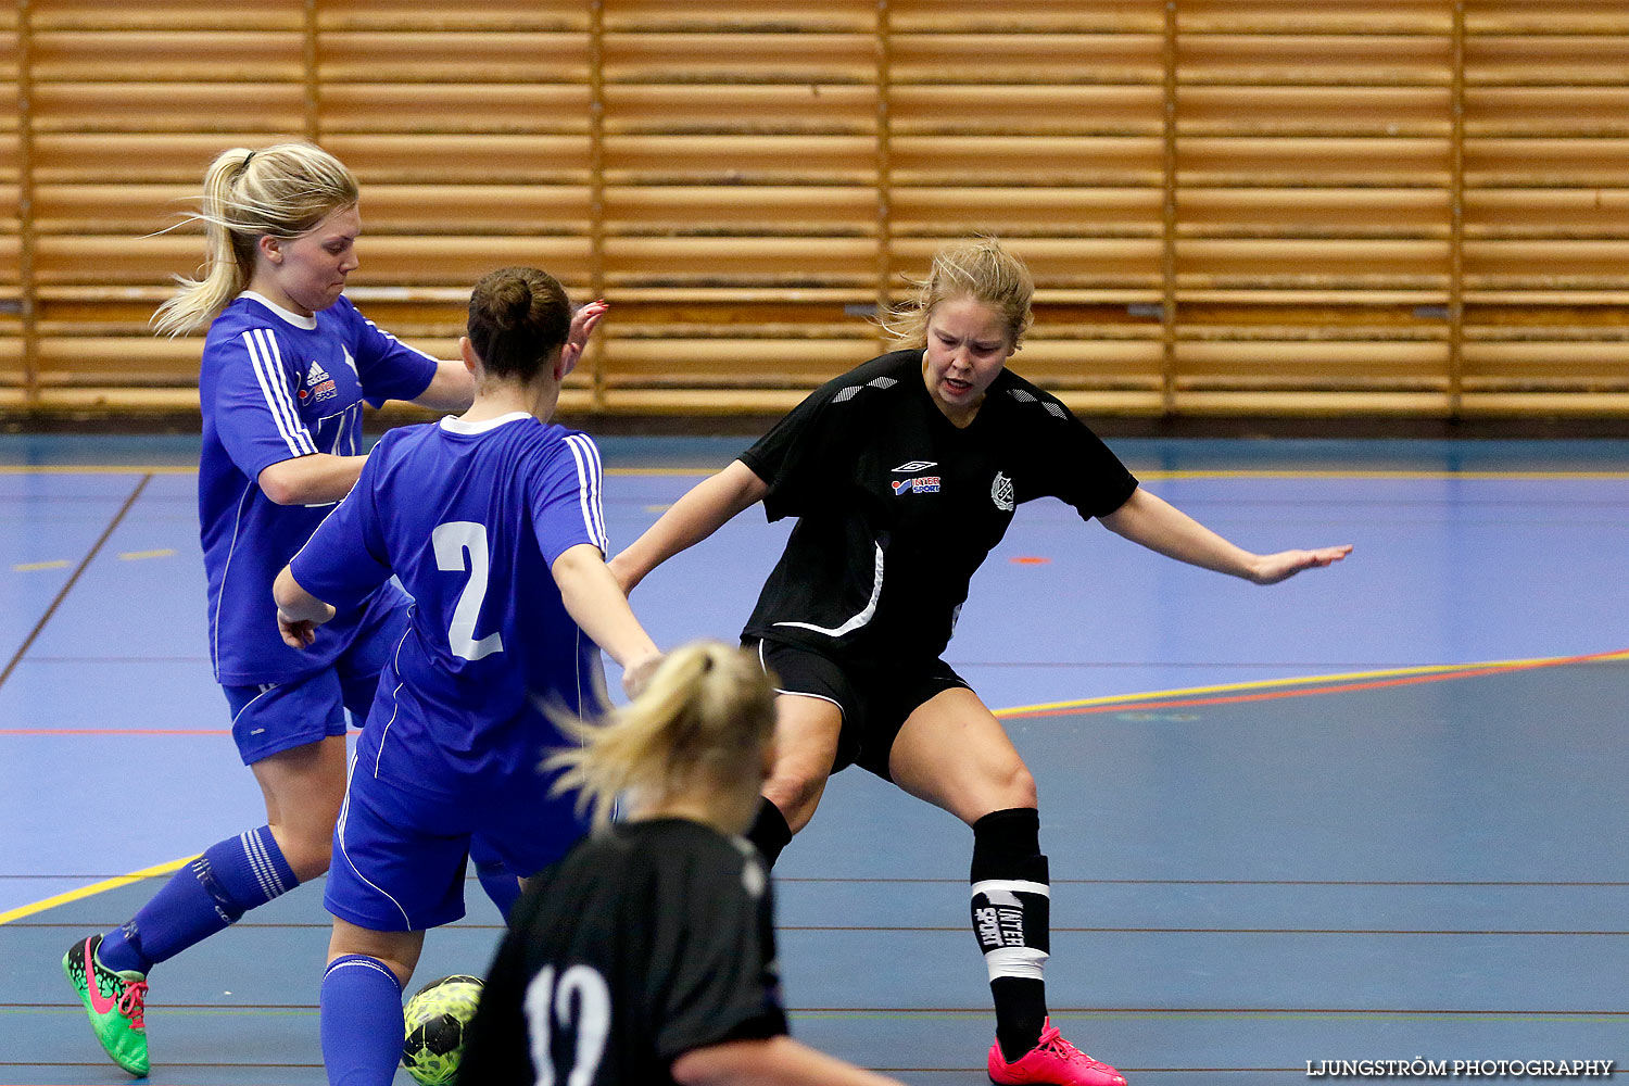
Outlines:
{"label": "blue jersey worn by the blonde ponytailed player at left", "polygon": [[199,521],[218,682],[287,682],[326,668],[350,645],[368,607],[394,594],[391,588],[357,601],[305,653],[283,645],[272,580],[334,503],[277,505],[261,492],[259,475],[296,456],[360,453],[362,402],[414,399],[435,368],[435,358],[381,332],[347,298],[305,317],[244,293],[210,324],[199,373]]}

